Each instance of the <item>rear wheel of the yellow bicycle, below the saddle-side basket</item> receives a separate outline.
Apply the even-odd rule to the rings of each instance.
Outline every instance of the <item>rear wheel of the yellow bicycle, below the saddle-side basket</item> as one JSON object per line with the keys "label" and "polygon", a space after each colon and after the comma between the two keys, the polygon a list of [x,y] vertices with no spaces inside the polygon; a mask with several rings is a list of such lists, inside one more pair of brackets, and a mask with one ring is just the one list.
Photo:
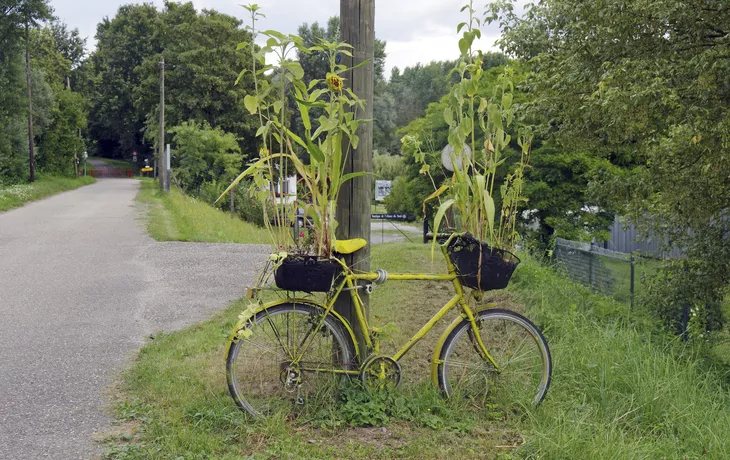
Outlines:
{"label": "rear wheel of the yellow bicycle, below the saddle-side basket", "polygon": [[226,375],[231,396],[251,415],[331,402],[356,368],[350,335],[320,307],[276,305],[254,315],[245,331],[228,349]]}

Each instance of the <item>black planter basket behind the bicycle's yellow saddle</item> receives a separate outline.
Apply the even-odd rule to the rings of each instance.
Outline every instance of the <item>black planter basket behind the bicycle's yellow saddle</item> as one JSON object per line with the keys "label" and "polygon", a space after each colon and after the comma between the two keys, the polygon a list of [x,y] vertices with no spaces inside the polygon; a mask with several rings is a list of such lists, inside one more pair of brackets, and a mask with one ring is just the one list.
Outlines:
{"label": "black planter basket behind the bicycle's yellow saddle", "polygon": [[328,292],[342,267],[316,256],[289,256],[274,272],[279,289],[303,292]]}

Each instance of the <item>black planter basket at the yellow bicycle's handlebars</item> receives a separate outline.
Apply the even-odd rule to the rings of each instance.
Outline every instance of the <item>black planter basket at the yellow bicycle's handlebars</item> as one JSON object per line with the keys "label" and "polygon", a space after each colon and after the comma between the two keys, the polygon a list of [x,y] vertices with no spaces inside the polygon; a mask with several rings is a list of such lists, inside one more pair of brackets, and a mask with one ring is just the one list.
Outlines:
{"label": "black planter basket at the yellow bicycle's handlebars", "polygon": [[520,263],[511,252],[490,248],[469,234],[452,240],[448,252],[461,284],[480,291],[506,288]]}

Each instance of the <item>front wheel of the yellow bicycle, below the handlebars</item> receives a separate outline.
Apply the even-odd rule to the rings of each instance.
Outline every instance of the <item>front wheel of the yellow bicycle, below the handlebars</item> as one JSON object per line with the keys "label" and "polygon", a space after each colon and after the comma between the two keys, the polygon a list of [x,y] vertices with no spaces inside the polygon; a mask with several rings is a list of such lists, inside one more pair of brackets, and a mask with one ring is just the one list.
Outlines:
{"label": "front wheel of the yellow bicycle, below the handlebars", "polygon": [[[552,361],[540,330],[524,316],[503,309],[477,314],[478,331],[463,320],[444,341],[438,383],[450,398],[507,410],[536,407],[550,386]],[[495,361],[482,356],[476,334]]]}

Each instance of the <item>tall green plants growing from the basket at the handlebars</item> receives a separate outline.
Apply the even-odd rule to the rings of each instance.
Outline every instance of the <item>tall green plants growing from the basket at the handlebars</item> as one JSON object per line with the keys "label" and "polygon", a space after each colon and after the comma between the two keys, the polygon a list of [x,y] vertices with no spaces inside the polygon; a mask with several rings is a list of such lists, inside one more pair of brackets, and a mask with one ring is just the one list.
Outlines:
{"label": "tall green plants growing from the basket at the handlebars", "polygon": [[[470,1],[462,8],[469,21],[462,22],[459,40],[461,58],[452,70],[459,82],[449,92],[444,120],[449,125],[448,142],[452,147],[451,164],[454,174],[437,188],[426,201],[438,198],[440,206],[434,217],[438,229],[447,211],[456,212],[460,227],[492,247],[513,249],[519,238],[516,230],[517,208],[523,197],[524,171],[529,165],[532,135],[525,129],[518,132],[520,161],[503,184],[496,184],[497,168],[505,161],[505,151],[512,141],[508,128],[515,123],[512,103],[514,85],[509,69],[500,76],[491,98],[477,95],[484,75],[481,51],[473,49],[475,39],[481,38],[481,21]],[[477,139],[483,137],[483,143]],[[470,152],[474,152],[473,156]],[[424,163],[424,166],[425,165]],[[495,207],[495,188],[502,198],[502,208]],[[434,243],[435,244],[435,243]]]}

